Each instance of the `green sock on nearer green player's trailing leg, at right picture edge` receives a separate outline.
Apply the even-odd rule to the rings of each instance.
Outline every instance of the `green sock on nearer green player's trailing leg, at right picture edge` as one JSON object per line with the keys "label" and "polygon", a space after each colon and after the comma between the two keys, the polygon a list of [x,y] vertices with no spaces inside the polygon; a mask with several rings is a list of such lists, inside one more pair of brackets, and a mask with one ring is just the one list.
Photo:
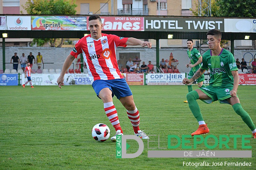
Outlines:
{"label": "green sock on nearer green player's trailing leg, at right picture edge", "polygon": [[233,106],[233,109],[235,110],[235,112],[237,113],[237,115],[241,116],[241,118],[243,119],[244,123],[247,124],[247,126],[251,129],[254,130],[255,129],[255,125],[252,122],[251,117],[249,116],[249,114],[243,109],[243,107],[241,106],[240,103],[236,103]]}

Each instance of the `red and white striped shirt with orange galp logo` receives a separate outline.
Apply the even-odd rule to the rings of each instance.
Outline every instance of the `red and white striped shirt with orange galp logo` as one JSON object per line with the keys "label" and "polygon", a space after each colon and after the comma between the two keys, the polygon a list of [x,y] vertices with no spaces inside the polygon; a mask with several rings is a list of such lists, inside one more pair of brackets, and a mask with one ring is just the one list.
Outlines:
{"label": "red and white striped shirt with orange galp logo", "polygon": [[128,38],[101,33],[98,40],[87,35],[76,42],[71,55],[83,54],[91,83],[94,80],[123,78],[116,60],[116,47],[126,47]]}

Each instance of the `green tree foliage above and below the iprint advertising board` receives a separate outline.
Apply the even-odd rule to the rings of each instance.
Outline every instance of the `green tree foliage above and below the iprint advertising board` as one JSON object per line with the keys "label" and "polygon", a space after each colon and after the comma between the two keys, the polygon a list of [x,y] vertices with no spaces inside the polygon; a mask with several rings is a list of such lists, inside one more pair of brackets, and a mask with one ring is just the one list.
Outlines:
{"label": "green tree foliage above and below the iprint advertising board", "polygon": [[[22,7],[31,15],[75,15],[76,4],[73,0],[28,0]],[[22,12],[21,12],[22,13]],[[56,44],[56,38],[34,38],[31,46],[43,46],[49,42],[51,47],[61,47],[63,39],[59,45]]]}

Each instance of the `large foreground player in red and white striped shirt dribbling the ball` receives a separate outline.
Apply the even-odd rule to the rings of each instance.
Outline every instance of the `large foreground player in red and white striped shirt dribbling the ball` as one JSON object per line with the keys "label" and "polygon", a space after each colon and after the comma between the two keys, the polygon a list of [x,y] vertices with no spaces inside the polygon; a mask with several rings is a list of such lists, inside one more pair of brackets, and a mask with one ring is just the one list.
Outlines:
{"label": "large foreground player in red and white striped shirt dribbling the ball", "polygon": [[[57,79],[59,87],[61,88],[61,85],[64,85],[64,75],[74,59],[82,53],[92,87],[97,96],[103,101],[104,110],[109,121],[116,129],[116,135],[123,135],[123,130],[113,104],[112,97],[114,95],[126,108],[128,118],[132,123],[134,135],[142,139],[148,139],[148,136],[139,128],[139,111],[134,104],[132,92],[118,69],[116,47],[140,45],[151,48],[151,42],[101,33],[103,24],[99,15],[91,15],[89,17],[89,28],[91,34],[78,40],[66,58],[60,77]],[[116,142],[116,135],[111,137],[113,142]]]}

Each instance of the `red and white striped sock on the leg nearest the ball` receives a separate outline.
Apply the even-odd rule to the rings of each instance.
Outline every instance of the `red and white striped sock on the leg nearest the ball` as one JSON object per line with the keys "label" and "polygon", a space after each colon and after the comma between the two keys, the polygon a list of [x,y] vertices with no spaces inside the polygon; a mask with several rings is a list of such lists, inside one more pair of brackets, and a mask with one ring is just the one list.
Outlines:
{"label": "red and white striped sock on the leg nearest the ball", "polygon": [[109,119],[110,123],[112,124],[112,126],[116,130],[121,130],[121,133],[123,133],[123,130],[122,130],[119,120],[118,120],[116,107],[114,106],[113,101],[108,102],[108,103],[103,103],[103,104],[104,104],[104,110],[106,112],[106,115],[108,116],[108,119]]}

